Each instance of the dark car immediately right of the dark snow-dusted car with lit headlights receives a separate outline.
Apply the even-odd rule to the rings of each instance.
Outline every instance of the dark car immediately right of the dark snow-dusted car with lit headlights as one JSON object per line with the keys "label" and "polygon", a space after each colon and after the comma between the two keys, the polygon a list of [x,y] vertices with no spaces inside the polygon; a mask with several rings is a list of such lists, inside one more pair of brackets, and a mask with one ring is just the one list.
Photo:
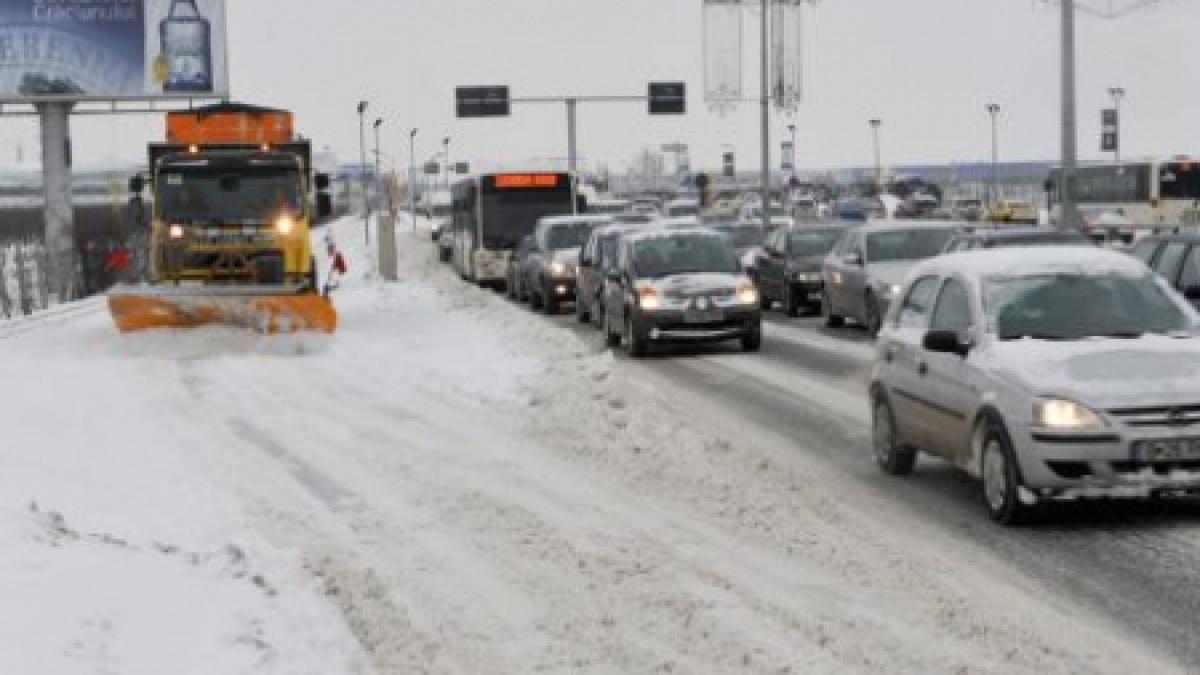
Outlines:
{"label": "dark car immediately right of the dark snow-dusted car with lit headlights", "polygon": [[809,313],[821,311],[821,264],[844,231],[841,225],[823,225],[780,228],[768,234],[754,274],[763,309],[778,300],[787,316],[798,316],[802,307]]}

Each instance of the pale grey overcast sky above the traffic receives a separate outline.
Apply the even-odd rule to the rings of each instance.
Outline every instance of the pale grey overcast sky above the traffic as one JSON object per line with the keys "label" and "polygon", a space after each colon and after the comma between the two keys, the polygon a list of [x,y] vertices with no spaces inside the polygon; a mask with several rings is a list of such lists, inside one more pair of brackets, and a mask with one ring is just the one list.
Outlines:
{"label": "pale grey overcast sky above the traffic", "polygon": [[[622,169],[643,147],[682,141],[697,166],[718,166],[724,144],[736,147],[739,168],[757,162],[756,107],[720,117],[702,101],[701,0],[228,0],[228,11],[234,98],[294,109],[301,131],[342,161],[358,155],[360,98],[384,118],[384,153],[398,161],[408,161],[415,126],[420,160],[450,136],[456,159],[486,165],[563,156],[565,114],[526,104],[509,119],[460,121],[455,85],[608,95],[684,79],[686,117],[650,118],[632,103],[581,106],[581,155]],[[1120,20],[1080,18],[1082,156],[1099,156],[1098,110],[1110,85],[1128,90],[1126,155],[1196,150],[1196,26],[1194,0]],[[1042,0],[823,0],[805,26],[799,166],[869,165],[872,117],[883,120],[884,163],[982,159],[992,101],[1003,107],[1003,159],[1056,156],[1058,28],[1057,10]],[[754,62],[745,76],[756,85]],[[773,151],[788,121],[775,118]],[[161,133],[154,117],[77,118],[77,163],[137,162]],[[32,123],[0,119],[0,166],[19,156],[32,168],[36,143]]]}

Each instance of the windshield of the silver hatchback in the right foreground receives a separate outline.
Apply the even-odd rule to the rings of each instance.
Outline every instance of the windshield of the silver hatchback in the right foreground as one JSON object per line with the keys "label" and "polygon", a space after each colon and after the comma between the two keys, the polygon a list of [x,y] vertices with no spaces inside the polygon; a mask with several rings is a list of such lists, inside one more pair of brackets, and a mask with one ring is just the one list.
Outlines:
{"label": "windshield of the silver hatchback in the right foreground", "polygon": [[991,279],[984,304],[1001,340],[1139,338],[1188,331],[1192,319],[1152,275],[1043,274]]}

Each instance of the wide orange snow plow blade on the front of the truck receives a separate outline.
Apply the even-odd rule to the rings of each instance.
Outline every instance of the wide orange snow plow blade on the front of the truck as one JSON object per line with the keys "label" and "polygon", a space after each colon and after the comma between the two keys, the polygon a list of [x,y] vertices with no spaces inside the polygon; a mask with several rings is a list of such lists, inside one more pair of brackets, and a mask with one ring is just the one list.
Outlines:
{"label": "wide orange snow plow blade on the front of the truck", "polygon": [[337,312],[326,298],[286,286],[125,286],[109,291],[108,311],[121,333],[209,324],[265,335],[337,329]]}

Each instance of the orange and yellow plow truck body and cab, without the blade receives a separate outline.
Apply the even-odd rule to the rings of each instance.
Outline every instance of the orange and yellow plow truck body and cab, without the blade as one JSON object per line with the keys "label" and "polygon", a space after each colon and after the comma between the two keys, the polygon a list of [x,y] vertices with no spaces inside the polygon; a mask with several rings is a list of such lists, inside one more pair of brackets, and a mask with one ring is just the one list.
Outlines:
{"label": "orange and yellow plow truck body and cab, without the blade", "polygon": [[[317,292],[311,227],[329,215],[329,178],[290,112],[238,103],[167,114],[150,145],[155,283]],[[131,189],[140,195],[144,179]]]}

